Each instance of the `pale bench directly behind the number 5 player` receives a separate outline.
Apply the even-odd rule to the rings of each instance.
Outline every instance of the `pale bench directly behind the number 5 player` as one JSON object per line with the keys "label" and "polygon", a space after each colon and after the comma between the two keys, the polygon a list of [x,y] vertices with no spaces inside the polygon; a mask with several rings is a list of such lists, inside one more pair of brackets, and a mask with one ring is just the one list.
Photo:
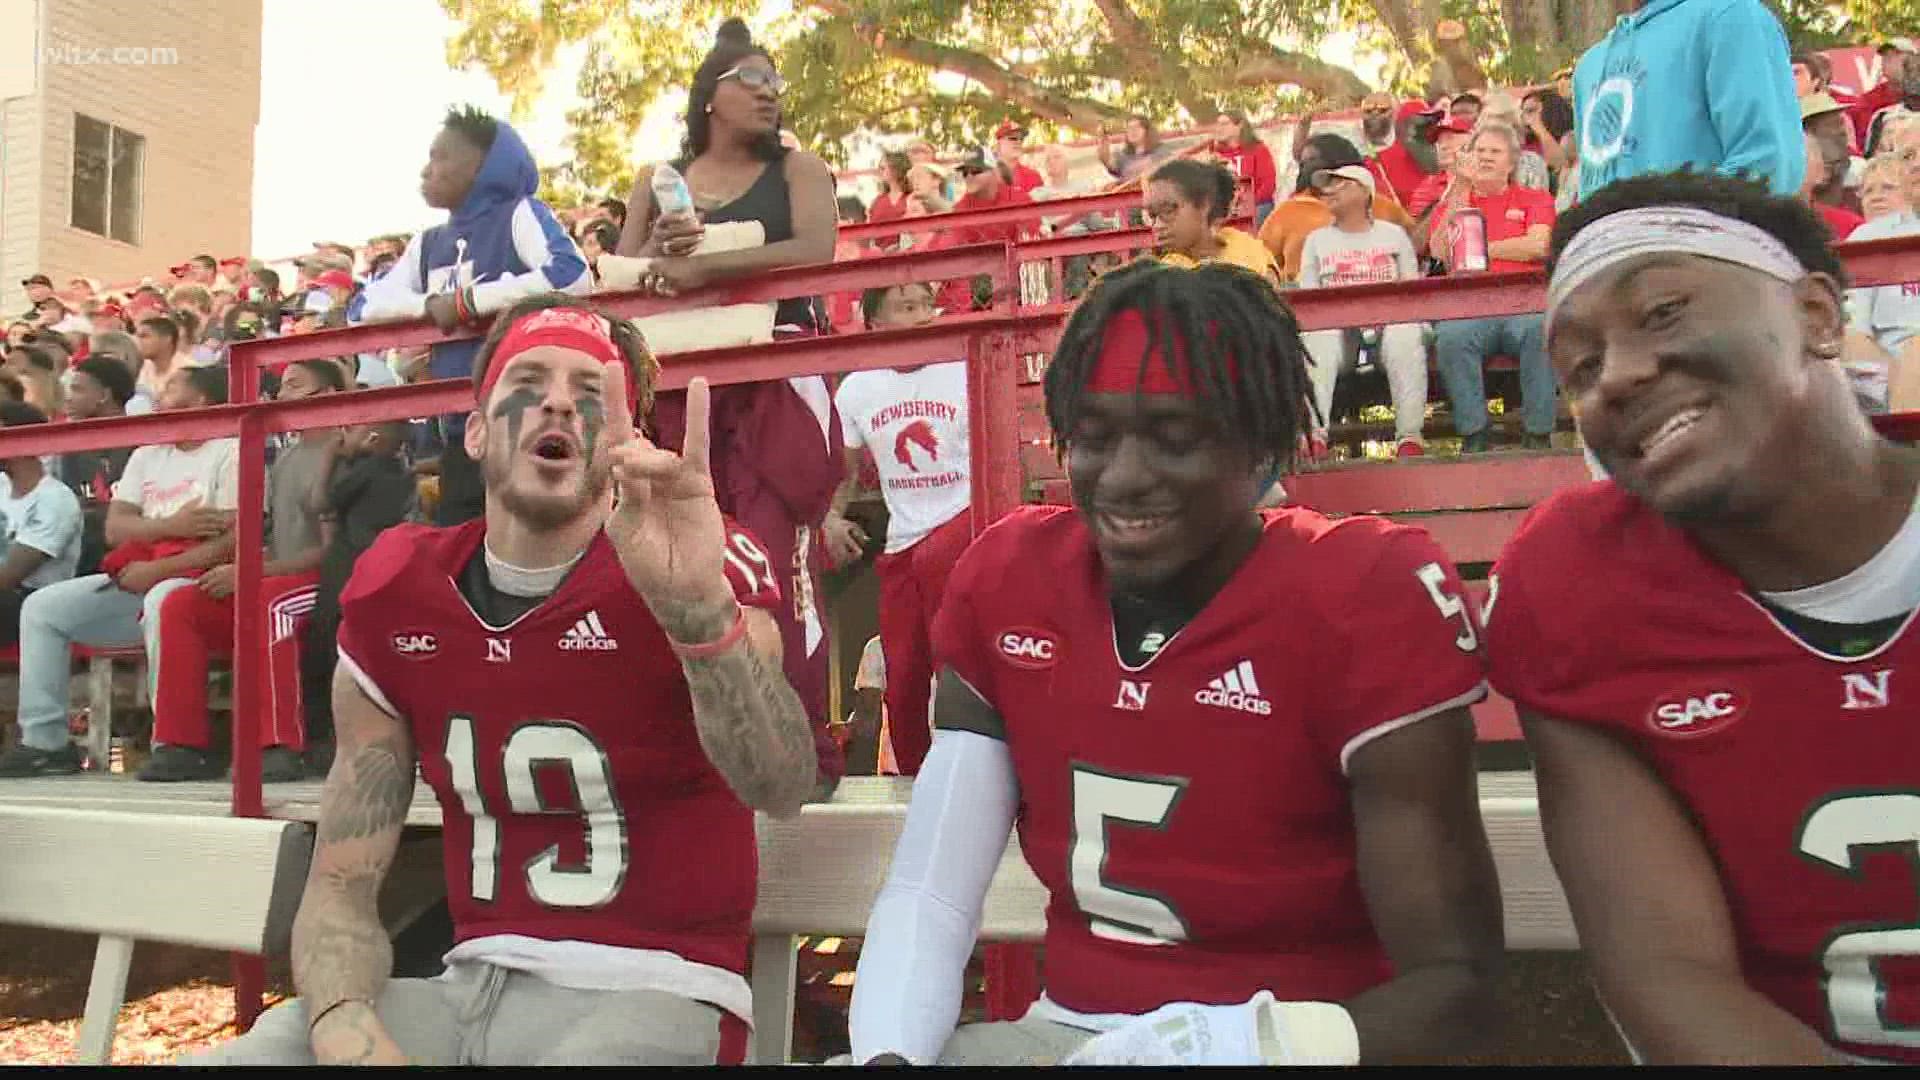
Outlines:
{"label": "pale bench directly behind the number 5 player", "polygon": [[[753,1063],[793,1053],[795,936],[860,936],[906,824],[904,780],[849,778],[831,803],[795,821],[760,819],[760,897],[753,913]],[[1482,773],[1480,813],[1500,871],[1509,949],[1574,949],[1578,940],[1548,863],[1532,776]],[[981,942],[1039,942],[1046,890],[1010,842],[987,894]]]}

